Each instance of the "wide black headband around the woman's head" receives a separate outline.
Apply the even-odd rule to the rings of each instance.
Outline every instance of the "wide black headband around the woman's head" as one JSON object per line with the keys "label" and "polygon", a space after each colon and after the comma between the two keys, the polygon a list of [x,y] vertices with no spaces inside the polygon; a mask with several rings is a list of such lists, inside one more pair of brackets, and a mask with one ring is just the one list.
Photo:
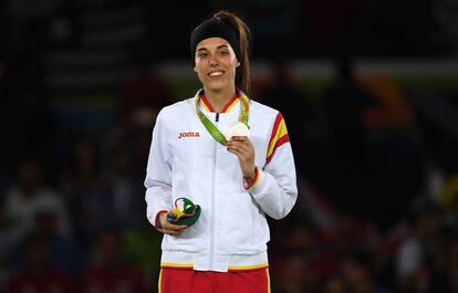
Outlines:
{"label": "wide black headband around the woman's head", "polygon": [[209,38],[222,38],[229,42],[232,46],[233,52],[236,53],[237,60],[241,61],[241,53],[240,53],[240,44],[239,44],[239,35],[236,30],[229,25],[226,21],[219,18],[211,18],[209,20],[204,21],[199,27],[194,29],[190,34],[190,50],[191,50],[191,59],[192,65],[195,65],[195,54],[196,54],[196,46],[197,44]]}

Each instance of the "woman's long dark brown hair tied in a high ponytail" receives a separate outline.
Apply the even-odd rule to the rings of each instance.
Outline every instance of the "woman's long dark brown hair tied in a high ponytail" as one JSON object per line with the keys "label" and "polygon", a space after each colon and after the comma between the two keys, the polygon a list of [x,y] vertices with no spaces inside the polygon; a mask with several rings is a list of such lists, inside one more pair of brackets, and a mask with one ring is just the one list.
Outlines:
{"label": "woman's long dark brown hair tied in a high ponytail", "polygon": [[[221,10],[215,13],[214,19],[219,19],[223,21],[227,25],[233,29],[237,33],[237,36],[239,39],[239,52],[238,52],[239,54],[238,55],[240,55],[240,57],[238,57],[239,59],[238,61],[240,62],[240,66],[238,66],[236,70],[236,86],[240,88],[241,91],[243,91],[248,96],[251,96],[251,77],[250,77],[250,63],[249,63],[249,53],[250,53],[250,45],[251,45],[250,29],[239,17],[228,11]],[[205,23],[205,21],[202,23]],[[192,44],[191,44],[191,48],[192,48]],[[195,48],[191,50],[194,51]],[[196,52],[191,52],[191,53],[192,53],[192,59],[194,59],[194,54]]]}

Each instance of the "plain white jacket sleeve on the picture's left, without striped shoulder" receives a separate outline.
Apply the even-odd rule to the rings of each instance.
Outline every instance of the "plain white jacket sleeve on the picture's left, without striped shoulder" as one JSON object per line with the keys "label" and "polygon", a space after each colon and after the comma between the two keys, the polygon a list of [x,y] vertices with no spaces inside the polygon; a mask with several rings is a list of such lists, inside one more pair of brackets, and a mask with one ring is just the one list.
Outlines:
{"label": "plain white jacket sleeve on the picture's left, without striped shoulder", "polygon": [[171,207],[171,157],[167,147],[164,111],[159,112],[153,130],[146,167],[146,217],[156,227],[156,218],[160,211]]}

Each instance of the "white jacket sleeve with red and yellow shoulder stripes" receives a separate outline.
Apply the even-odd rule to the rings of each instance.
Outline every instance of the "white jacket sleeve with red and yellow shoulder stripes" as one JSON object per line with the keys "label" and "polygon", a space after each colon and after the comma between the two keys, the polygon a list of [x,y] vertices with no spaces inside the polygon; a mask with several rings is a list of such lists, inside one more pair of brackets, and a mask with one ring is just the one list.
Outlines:
{"label": "white jacket sleeve with red and yellow shoulder stripes", "polygon": [[295,166],[283,117],[279,113],[269,143],[267,164],[246,184],[260,208],[273,219],[284,218],[298,198]]}

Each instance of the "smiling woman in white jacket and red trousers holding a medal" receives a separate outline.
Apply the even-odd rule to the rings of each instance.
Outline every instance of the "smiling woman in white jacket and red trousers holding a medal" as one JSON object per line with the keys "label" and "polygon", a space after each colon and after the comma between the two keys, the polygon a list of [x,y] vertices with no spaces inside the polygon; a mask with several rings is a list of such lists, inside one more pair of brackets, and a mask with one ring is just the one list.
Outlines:
{"label": "smiling woman in white jacket and red trousers holding a medal", "polygon": [[[249,100],[249,30],[218,12],[190,34],[202,88],[165,107],[145,179],[147,218],[164,236],[159,292],[269,292],[266,214],[296,199],[281,114]],[[249,130],[248,130],[249,129]],[[192,226],[170,221],[177,198],[201,208]]]}

